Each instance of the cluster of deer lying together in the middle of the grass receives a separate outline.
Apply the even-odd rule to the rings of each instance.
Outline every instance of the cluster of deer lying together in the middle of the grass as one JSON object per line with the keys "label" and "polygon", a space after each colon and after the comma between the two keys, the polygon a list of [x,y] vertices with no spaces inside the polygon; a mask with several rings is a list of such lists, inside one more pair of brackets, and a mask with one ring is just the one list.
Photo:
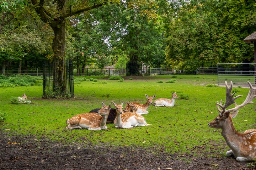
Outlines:
{"label": "cluster of deer lying together in the middle of the grass", "polygon": [[[130,129],[135,126],[148,126],[142,114],[148,114],[147,109],[153,104],[153,99],[156,97],[145,95],[147,101],[145,104],[137,102],[126,102],[127,105],[123,109],[123,103],[113,105],[116,109],[111,108],[111,105],[106,106],[102,102],[102,108],[94,109],[89,113],[82,113],[66,120],[67,129],[89,129],[102,130],[107,129],[106,123],[114,123],[116,128]],[[178,98],[176,93],[172,93],[172,99],[159,98],[154,101],[154,106],[174,106],[175,98]]]}

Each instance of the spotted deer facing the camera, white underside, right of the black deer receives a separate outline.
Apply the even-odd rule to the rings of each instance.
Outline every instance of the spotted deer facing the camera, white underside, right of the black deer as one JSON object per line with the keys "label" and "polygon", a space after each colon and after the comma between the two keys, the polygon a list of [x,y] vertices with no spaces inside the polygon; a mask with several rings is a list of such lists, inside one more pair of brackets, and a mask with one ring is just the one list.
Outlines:
{"label": "spotted deer facing the camera, white underside, right of the black deer", "polygon": [[116,107],[117,112],[116,119],[114,120],[116,128],[131,129],[136,126],[150,125],[146,123],[145,118],[142,115],[132,112],[123,112],[123,103],[116,104],[113,102],[113,104]]}

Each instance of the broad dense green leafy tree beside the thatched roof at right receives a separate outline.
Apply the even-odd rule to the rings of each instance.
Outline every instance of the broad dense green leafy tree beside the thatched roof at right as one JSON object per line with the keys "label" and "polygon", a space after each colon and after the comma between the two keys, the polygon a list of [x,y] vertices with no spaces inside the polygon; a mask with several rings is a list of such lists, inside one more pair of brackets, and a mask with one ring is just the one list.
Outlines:
{"label": "broad dense green leafy tree beside the thatched roof at right", "polygon": [[187,2],[169,24],[166,61],[188,71],[251,61],[250,47],[242,40],[255,30],[254,1]]}

